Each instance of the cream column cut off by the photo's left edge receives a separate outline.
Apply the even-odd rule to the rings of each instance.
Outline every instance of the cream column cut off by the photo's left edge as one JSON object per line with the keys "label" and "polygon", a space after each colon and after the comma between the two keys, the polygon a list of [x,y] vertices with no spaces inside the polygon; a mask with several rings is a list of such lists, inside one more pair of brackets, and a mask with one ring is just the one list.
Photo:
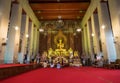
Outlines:
{"label": "cream column cut off by the photo's left edge", "polygon": [[0,63],[4,62],[11,0],[0,0]]}

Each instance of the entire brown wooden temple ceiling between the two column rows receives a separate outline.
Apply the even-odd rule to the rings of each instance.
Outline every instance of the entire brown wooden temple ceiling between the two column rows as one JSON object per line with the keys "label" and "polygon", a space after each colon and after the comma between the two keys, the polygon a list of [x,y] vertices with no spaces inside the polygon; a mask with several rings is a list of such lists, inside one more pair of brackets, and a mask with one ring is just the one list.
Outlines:
{"label": "entire brown wooden temple ceiling between the two column rows", "polygon": [[36,17],[41,20],[82,20],[90,0],[29,0]]}

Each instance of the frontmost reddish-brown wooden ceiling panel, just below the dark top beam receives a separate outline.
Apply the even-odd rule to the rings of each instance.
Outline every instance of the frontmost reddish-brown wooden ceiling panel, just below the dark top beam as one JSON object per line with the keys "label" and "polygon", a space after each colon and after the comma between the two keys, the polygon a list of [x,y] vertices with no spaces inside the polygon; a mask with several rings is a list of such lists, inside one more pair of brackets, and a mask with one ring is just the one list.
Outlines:
{"label": "frontmost reddish-brown wooden ceiling panel, just below the dark top beam", "polygon": [[36,3],[30,5],[33,10],[86,10],[89,3]]}

